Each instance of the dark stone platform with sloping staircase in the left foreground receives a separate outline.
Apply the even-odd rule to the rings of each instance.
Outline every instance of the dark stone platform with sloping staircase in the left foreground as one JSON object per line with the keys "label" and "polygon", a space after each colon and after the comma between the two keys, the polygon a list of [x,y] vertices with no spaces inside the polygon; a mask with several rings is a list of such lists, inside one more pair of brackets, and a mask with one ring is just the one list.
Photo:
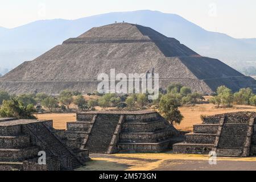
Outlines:
{"label": "dark stone platform with sloping staircase in the left foreground", "polygon": [[[61,140],[63,131],[52,121],[0,119],[0,171],[72,170],[89,159],[88,150],[71,150]],[[46,165],[38,159],[46,152]]]}

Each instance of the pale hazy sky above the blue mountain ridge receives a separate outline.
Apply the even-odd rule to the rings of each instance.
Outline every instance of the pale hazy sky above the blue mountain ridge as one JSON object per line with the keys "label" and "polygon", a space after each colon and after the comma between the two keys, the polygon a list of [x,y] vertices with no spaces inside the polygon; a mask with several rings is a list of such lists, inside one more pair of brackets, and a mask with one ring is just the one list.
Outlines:
{"label": "pale hazy sky above the blue mountain ridge", "polygon": [[0,27],[133,10],[174,13],[206,30],[235,38],[256,38],[255,0],[0,0]]}

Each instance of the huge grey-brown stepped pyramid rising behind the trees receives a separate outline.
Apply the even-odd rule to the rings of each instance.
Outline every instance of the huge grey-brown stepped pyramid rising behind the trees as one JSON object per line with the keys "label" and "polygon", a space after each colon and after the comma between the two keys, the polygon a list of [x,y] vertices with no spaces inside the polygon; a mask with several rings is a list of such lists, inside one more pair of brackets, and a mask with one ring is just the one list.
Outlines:
{"label": "huge grey-brown stepped pyramid rising behind the trees", "polygon": [[[39,43],[40,46],[40,43]],[[256,82],[220,60],[202,57],[174,38],[137,24],[115,23],[92,28],[27,61],[0,79],[12,93],[97,90],[100,73],[159,73],[160,88],[180,82],[210,94],[220,85],[233,91]]]}

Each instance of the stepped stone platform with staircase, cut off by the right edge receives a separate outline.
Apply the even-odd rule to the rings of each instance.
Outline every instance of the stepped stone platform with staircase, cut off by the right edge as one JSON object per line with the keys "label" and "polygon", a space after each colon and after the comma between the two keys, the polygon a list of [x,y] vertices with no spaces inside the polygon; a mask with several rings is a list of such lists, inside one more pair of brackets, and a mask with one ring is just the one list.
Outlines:
{"label": "stepped stone platform with staircase, cut off by the right edge", "polygon": [[246,157],[256,154],[256,113],[239,112],[204,118],[185,142],[174,144],[174,152]]}

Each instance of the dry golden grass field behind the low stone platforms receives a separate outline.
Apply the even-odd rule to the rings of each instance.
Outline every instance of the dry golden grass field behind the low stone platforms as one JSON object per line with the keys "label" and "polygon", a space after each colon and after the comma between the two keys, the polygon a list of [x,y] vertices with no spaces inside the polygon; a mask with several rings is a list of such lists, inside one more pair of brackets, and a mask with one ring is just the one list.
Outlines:
{"label": "dry golden grass field behind the low stone platforms", "polygon": [[[193,125],[201,123],[200,115],[214,115],[222,113],[232,113],[237,111],[256,111],[254,106],[243,106],[236,105],[232,108],[216,108],[212,104],[201,104],[195,106],[183,106],[180,107],[181,114],[183,114],[184,119],[180,125],[175,127],[179,130],[192,131]],[[67,122],[75,122],[76,114],[38,114],[38,119],[53,119],[53,127],[56,129],[66,129]]]}

